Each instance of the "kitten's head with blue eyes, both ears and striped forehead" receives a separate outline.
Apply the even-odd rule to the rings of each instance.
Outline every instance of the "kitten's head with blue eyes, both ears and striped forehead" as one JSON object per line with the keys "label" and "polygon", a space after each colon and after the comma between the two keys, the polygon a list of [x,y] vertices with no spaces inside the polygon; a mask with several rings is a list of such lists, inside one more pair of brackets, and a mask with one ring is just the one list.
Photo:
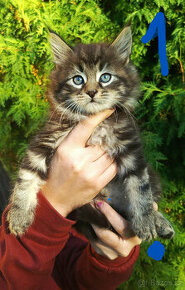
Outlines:
{"label": "kitten's head with blue eyes, both ears and striped forehead", "polygon": [[90,115],[109,108],[133,109],[138,77],[129,64],[131,31],[125,28],[111,44],[78,44],[71,49],[51,35],[56,70],[52,102],[62,113]]}

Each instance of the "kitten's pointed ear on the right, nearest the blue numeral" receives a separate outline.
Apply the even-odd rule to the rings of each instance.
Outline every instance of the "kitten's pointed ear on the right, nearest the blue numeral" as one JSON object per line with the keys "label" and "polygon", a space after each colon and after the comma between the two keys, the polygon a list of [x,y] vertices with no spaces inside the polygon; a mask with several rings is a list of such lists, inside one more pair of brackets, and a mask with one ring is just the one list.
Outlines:
{"label": "kitten's pointed ear on the right, nearest the blue numeral", "polygon": [[129,61],[132,48],[132,31],[130,26],[125,26],[116,39],[111,43],[115,47],[122,59]]}

